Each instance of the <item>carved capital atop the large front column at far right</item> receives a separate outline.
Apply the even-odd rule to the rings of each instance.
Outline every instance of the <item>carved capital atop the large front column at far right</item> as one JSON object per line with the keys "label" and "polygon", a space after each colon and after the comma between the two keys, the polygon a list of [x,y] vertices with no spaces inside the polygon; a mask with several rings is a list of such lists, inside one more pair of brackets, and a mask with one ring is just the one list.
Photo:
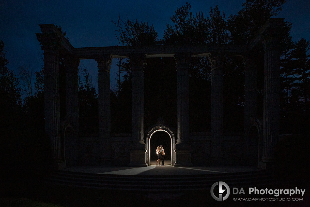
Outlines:
{"label": "carved capital atop the large front column at far right", "polygon": [[279,41],[281,39],[281,32],[279,29],[268,27],[262,34],[261,38],[263,41],[264,51],[278,50]]}

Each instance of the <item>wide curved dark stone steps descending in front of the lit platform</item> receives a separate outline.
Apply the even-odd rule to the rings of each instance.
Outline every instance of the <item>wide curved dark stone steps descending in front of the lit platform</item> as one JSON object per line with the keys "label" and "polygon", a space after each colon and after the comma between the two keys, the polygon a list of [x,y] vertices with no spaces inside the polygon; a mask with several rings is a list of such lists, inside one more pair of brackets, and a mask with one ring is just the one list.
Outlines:
{"label": "wide curved dark stone steps descending in front of the lit platform", "polygon": [[162,191],[206,190],[218,181],[226,182],[233,187],[270,186],[280,182],[276,176],[266,171],[184,176],[111,175],[56,171],[51,173],[44,183],[78,188],[158,192],[160,186],[163,187]]}

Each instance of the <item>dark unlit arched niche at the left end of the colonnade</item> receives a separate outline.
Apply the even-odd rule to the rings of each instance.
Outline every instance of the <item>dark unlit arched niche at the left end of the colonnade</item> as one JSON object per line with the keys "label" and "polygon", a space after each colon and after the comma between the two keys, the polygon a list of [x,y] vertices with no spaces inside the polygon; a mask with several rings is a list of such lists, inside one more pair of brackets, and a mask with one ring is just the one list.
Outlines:
{"label": "dark unlit arched niche at the left end of the colonnade", "polygon": [[66,166],[77,165],[77,140],[72,127],[67,127],[64,131],[64,160]]}

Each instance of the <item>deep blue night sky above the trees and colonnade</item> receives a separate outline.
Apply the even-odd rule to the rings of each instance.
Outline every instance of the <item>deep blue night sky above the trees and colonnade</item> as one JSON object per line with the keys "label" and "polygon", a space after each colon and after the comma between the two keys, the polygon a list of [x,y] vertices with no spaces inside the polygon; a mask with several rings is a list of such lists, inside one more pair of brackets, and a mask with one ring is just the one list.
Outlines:
{"label": "deep blue night sky above the trees and colonnade", "polygon": [[[209,16],[210,7],[219,6],[226,17],[241,10],[242,0],[231,1],[189,1],[191,12],[203,11]],[[40,45],[35,33],[40,33],[39,24],[53,23],[61,25],[67,32],[73,47],[114,46],[117,39],[114,25],[118,11],[123,17],[139,22],[153,24],[162,38],[166,23],[186,1],[1,1],[0,2],[0,39],[5,44],[8,68],[15,70],[23,64],[31,64],[39,70],[43,64]],[[300,38],[310,40],[310,2],[309,0],[290,0],[277,15],[293,23],[291,36],[293,41]],[[97,74],[95,60],[81,60],[92,72],[93,80]],[[111,67],[111,88],[115,86],[116,64]],[[95,81],[94,81],[95,82]],[[97,85],[97,84],[95,84]],[[97,87],[96,87],[97,88]]]}

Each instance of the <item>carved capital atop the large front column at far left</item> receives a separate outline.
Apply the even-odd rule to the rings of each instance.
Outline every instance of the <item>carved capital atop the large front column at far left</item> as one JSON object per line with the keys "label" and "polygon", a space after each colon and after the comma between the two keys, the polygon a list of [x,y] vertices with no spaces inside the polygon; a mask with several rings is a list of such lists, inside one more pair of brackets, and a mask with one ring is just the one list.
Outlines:
{"label": "carved capital atop the large front column at far left", "polygon": [[56,33],[36,33],[36,35],[44,53],[59,52],[61,38]]}

